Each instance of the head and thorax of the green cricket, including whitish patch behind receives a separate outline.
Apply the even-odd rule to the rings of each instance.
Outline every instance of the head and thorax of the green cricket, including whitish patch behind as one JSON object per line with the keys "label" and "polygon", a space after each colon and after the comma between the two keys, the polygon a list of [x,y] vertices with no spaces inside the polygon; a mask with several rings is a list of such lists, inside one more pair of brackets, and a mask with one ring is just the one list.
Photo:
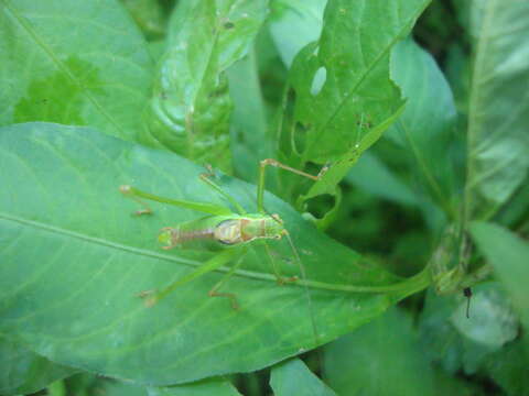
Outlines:
{"label": "head and thorax of the green cricket, including whitish patch behind", "polygon": [[256,239],[281,239],[283,234],[283,226],[273,218],[239,218],[218,223],[214,239],[225,244],[236,244]]}

